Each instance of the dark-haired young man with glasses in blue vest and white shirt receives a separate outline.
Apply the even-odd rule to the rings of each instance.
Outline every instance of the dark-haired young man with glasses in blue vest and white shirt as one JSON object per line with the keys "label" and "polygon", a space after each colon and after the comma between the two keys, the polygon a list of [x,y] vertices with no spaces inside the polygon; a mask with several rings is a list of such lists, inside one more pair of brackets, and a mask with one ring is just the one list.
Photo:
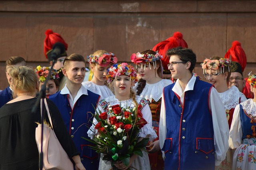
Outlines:
{"label": "dark-haired young man with glasses in blue vest and white shirt", "polygon": [[169,49],[176,83],[164,88],[159,142],[166,170],[214,170],[228,150],[228,121],[216,89],[192,73],[196,54]]}

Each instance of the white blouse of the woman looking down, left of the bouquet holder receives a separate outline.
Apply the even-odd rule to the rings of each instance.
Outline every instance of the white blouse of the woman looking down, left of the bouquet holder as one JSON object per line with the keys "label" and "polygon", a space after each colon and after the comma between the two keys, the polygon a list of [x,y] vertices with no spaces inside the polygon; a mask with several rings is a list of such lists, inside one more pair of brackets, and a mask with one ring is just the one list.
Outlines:
{"label": "white blouse of the woman looking down, left of the bouquet holder", "polygon": [[92,83],[91,81],[84,81],[84,82],[82,82],[82,85],[87,90],[90,90],[91,92],[100,95],[100,100],[114,95],[112,93],[112,91],[108,88],[108,86],[106,86],[106,85],[96,85],[95,83]]}

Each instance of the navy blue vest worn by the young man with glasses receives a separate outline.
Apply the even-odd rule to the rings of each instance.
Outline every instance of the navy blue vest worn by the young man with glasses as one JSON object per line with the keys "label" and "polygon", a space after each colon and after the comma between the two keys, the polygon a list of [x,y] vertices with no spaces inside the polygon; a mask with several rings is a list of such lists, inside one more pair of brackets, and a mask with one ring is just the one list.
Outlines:
{"label": "navy blue vest worn by the young man with glasses", "polygon": [[[175,83],[174,83],[175,84]],[[214,170],[214,130],[209,107],[212,85],[196,79],[194,90],[186,91],[182,107],[172,88],[164,88],[166,110],[166,170]]]}

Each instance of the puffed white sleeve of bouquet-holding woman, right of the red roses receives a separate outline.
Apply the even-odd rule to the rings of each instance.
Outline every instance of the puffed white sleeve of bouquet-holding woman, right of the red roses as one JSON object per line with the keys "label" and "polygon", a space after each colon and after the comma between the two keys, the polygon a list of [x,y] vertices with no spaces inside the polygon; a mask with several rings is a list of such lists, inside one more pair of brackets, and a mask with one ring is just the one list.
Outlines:
{"label": "puffed white sleeve of bouquet-holding woman, right of the red roses", "polygon": [[152,127],[152,115],[148,103],[141,110],[142,117],[147,121],[147,124],[140,129],[139,137],[145,138],[149,134],[149,140],[157,138],[156,132]]}

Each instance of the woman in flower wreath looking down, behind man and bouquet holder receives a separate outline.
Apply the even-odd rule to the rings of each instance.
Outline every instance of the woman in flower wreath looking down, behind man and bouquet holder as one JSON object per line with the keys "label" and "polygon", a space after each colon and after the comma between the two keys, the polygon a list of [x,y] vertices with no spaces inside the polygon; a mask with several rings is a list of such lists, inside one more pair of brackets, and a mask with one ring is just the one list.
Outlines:
{"label": "woman in flower wreath looking down, behind man and bouquet holder", "polygon": [[82,85],[93,93],[100,95],[100,100],[114,95],[106,85],[107,69],[117,63],[114,53],[98,50],[87,58],[90,63],[90,69],[93,72],[93,77],[91,81],[82,82]]}

